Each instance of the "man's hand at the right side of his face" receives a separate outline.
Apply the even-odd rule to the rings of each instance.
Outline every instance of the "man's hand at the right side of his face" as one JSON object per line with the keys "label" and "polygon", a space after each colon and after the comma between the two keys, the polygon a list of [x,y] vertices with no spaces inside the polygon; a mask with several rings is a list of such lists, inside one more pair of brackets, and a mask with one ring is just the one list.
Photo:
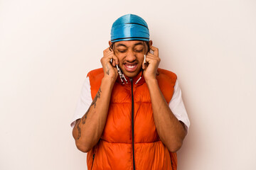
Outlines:
{"label": "man's hand at the right side of his face", "polygon": [[147,81],[156,79],[157,68],[159,67],[160,58],[159,50],[154,46],[150,46],[150,49],[154,51],[154,54],[150,52],[146,55],[146,64],[142,64],[142,69],[144,69],[144,78]]}

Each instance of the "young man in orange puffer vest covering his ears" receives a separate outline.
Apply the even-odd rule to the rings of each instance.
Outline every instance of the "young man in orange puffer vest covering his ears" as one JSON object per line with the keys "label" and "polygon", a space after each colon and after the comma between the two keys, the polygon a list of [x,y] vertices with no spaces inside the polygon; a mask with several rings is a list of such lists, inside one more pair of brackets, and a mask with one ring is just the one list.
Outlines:
{"label": "young man in orange puffer vest covering his ears", "polygon": [[190,124],[176,74],[158,68],[159,50],[139,16],[118,18],[109,45],[83,85],[75,145],[87,152],[88,169],[176,169]]}

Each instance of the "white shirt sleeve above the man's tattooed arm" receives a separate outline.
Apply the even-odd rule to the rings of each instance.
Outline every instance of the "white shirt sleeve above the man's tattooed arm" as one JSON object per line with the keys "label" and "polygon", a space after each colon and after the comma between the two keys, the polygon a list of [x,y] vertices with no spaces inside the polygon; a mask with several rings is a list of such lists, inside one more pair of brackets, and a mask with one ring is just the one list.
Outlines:
{"label": "white shirt sleeve above the man's tattooed arm", "polygon": [[74,128],[75,121],[82,118],[85,115],[86,111],[92,103],[92,95],[90,91],[90,79],[86,77],[84,83],[82,84],[80,98],[78,99],[78,104],[75,109],[70,126]]}

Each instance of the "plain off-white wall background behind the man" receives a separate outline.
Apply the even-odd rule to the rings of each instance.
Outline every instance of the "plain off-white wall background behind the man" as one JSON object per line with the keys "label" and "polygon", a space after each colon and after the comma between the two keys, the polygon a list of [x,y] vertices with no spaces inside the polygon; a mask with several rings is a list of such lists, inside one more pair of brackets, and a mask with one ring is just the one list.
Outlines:
{"label": "plain off-white wall background behind the man", "polygon": [[179,170],[256,169],[256,1],[0,0],[0,169],[86,169],[70,120],[112,23],[142,16],[191,128]]}

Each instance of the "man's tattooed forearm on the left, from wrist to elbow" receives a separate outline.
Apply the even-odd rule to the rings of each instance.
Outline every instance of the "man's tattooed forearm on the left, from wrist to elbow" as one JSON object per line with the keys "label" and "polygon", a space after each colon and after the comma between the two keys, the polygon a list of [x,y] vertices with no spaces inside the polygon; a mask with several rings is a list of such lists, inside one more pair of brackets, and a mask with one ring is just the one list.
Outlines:
{"label": "man's tattooed forearm on the left, from wrist to elbow", "polygon": [[102,79],[90,108],[73,128],[75,144],[82,152],[88,152],[100,140],[107,119],[112,87],[110,81]]}

